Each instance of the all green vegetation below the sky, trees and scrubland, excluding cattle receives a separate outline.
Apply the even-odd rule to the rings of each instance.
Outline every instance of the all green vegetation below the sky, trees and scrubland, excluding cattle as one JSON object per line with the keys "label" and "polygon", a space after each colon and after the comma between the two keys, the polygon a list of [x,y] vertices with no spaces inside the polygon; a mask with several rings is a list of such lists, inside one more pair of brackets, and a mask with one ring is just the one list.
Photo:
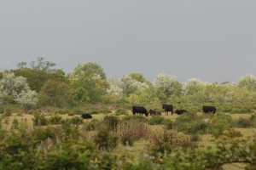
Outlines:
{"label": "all green vegetation below the sky, trees and scrubland, excluding cattle", "polygon": [[[149,82],[141,73],[108,79],[94,62],[70,73],[54,67],[40,57],[0,73],[0,169],[256,168],[253,75]],[[188,112],[165,116],[163,103]],[[162,115],[133,116],[132,105]]]}

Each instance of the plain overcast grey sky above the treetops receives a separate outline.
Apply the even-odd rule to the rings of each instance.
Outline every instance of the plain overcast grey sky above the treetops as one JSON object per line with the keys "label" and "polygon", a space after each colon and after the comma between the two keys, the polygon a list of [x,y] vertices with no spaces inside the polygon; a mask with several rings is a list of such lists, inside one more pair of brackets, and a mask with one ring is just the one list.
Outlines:
{"label": "plain overcast grey sky above the treetops", "polygon": [[180,82],[256,76],[256,0],[0,0],[0,71],[44,57],[66,73]]}

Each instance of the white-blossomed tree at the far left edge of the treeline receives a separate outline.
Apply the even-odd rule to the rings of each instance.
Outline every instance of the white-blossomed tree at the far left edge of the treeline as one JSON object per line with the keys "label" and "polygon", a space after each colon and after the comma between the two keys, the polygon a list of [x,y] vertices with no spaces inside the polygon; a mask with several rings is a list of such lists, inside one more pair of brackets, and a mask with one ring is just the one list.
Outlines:
{"label": "white-blossomed tree at the far left edge of the treeline", "polygon": [[0,80],[0,101],[16,102],[25,109],[36,105],[37,93],[32,91],[24,77],[15,77],[13,73],[4,73]]}

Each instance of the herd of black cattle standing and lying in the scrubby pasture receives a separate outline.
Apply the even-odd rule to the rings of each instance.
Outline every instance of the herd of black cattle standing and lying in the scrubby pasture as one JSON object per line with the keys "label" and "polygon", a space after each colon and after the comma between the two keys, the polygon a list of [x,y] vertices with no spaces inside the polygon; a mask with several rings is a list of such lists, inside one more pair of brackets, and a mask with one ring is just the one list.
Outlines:
{"label": "herd of black cattle standing and lying in the scrubby pasture", "polygon": [[[164,109],[166,111],[166,116],[168,115],[169,112],[171,112],[173,114],[173,106],[172,105],[166,105],[166,104],[163,104],[162,105],[162,109]],[[215,106],[207,106],[207,105],[203,105],[202,106],[202,111],[204,113],[215,113],[216,112],[216,107]],[[186,110],[176,110],[174,111],[174,113],[176,113],[177,115],[181,115],[183,113],[186,113],[187,111]],[[147,109],[143,106],[132,106],[132,114],[135,115],[136,113],[140,114],[140,115],[150,115],[150,116],[154,116],[154,115],[161,115],[161,112],[160,111],[154,111],[152,109],[150,109],[149,111],[147,111]],[[91,119],[92,116],[88,113],[83,113],[82,118],[84,119]]]}

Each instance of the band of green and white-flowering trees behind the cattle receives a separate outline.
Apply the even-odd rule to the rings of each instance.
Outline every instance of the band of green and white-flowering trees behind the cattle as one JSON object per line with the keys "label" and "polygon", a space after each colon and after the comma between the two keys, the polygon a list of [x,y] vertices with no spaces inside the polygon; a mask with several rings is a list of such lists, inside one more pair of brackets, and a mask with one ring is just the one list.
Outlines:
{"label": "band of green and white-flowering trees behind the cattle", "polygon": [[[43,57],[29,64],[20,62],[17,69],[0,73],[2,105],[18,104],[26,110],[33,106],[72,108],[99,103],[158,109],[162,103],[171,103],[180,108],[190,105],[198,111],[201,105],[212,103],[222,111],[230,111],[234,105],[247,105],[253,110],[255,101],[256,77],[253,75],[241,77],[237,83],[208,83],[197,78],[178,82],[176,77],[167,74],[159,74],[154,82],[149,82],[141,73],[114,79],[106,77],[102,66],[95,62],[80,64],[65,73]],[[223,104],[228,108],[222,108]],[[232,105],[230,109],[229,105]]]}

